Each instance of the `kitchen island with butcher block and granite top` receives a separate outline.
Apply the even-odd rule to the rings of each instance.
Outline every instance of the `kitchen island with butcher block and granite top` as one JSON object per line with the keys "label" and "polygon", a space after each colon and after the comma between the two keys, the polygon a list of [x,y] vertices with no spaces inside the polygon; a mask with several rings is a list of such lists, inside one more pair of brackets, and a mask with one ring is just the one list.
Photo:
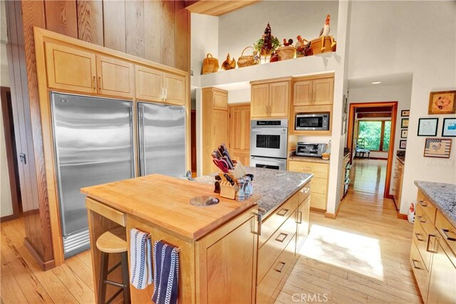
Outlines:
{"label": "kitchen island with butcher block and granite top", "polygon": [[[311,174],[255,168],[247,172],[256,182],[254,196],[243,202],[214,194],[212,182],[159,174],[81,189],[87,196],[95,295],[100,267],[96,240],[105,231],[124,226],[125,231],[136,228],[149,233],[152,241],[180,248],[180,303],[254,303],[261,298],[260,284],[270,298],[269,290],[276,290],[277,279],[282,280],[296,257],[298,231],[301,241],[307,234],[309,215],[303,206],[309,206],[304,202],[309,201]],[[263,187],[267,191],[261,195]],[[192,197],[204,195],[217,196],[219,204],[190,204]],[[120,281],[120,273],[112,276]],[[130,288],[132,303],[151,301],[153,285]],[[115,288],[108,288],[107,298],[112,293]]]}

